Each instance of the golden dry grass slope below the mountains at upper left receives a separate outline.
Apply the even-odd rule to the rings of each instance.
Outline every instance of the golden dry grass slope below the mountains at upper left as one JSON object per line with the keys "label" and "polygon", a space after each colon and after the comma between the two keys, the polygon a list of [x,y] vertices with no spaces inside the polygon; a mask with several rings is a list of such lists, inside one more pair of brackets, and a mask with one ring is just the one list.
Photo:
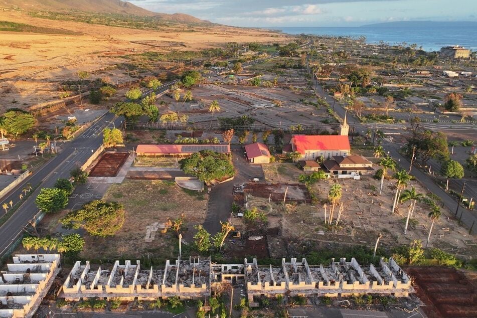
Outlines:
{"label": "golden dry grass slope below the mountains at upper left", "polygon": [[[289,41],[285,36],[264,30],[219,26],[197,28],[193,33],[183,32],[178,27],[165,27],[160,31],[138,30],[33,18],[14,10],[0,11],[0,20],[83,33],[0,32],[0,59],[3,59],[0,65],[0,112],[11,107],[9,104],[13,100],[17,102],[15,107],[24,108],[57,99],[59,82],[76,79],[77,71],[92,73],[90,79],[108,76],[114,83],[127,82],[130,77],[114,68],[124,62],[120,56],[131,53],[192,51],[222,47],[227,42]],[[150,43],[141,41],[155,41],[162,45],[150,46]]]}

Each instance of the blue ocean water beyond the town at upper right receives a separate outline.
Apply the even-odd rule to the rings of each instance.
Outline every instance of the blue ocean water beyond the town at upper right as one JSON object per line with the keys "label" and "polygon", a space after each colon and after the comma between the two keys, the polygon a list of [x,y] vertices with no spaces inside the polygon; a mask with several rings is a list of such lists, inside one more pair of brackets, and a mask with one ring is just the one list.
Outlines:
{"label": "blue ocean water beyond the town at upper right", "polygon": [[406,42],[407,45],[417,44],[425,51],[438,51],[441,47],[459,45],[466,49],[477,50],[477,28],[469,24],[451,23],[439,26],[436,23],[428,26],[399,26],[385,27],[369,25],[362,27],[319,27],[319,28],[270,28],[288,34],[313,34],[328,36],[366,37],[366,43],[377,44],[383,41],[393,45]]}

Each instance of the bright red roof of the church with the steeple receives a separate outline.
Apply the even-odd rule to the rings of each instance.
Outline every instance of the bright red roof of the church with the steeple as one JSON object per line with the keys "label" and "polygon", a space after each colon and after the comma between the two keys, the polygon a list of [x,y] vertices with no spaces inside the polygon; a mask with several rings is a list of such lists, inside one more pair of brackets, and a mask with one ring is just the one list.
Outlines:
{"label": "bright red roof of the church with the steeple", "polygon": [[306,150],[350,150],[350,139],[341,135],[294,135],[291,142],[295,150],[305,154]]}

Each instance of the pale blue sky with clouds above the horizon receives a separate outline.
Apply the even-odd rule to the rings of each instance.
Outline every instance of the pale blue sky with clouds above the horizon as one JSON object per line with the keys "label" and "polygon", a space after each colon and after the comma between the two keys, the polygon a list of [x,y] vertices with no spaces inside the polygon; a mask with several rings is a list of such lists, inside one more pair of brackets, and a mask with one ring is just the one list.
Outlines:
{"label": "pale blue sky with clouds above the horizon", "polygon": [[477,21],[477,0],[129,0],[238,27],[355,27],[391,21]]}

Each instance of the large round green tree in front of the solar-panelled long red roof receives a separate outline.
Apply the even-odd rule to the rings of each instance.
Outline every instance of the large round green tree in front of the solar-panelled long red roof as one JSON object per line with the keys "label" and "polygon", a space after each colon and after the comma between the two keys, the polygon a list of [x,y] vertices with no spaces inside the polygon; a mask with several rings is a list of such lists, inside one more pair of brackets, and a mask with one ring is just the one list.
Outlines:
{"label": "large round green tree in front of the solar-panelled long red roof", "polygon": [[179,163],[184,173],[205,182],[230,177],[234,174],[230,157],[225,153],[202,150],[182,159]]}

